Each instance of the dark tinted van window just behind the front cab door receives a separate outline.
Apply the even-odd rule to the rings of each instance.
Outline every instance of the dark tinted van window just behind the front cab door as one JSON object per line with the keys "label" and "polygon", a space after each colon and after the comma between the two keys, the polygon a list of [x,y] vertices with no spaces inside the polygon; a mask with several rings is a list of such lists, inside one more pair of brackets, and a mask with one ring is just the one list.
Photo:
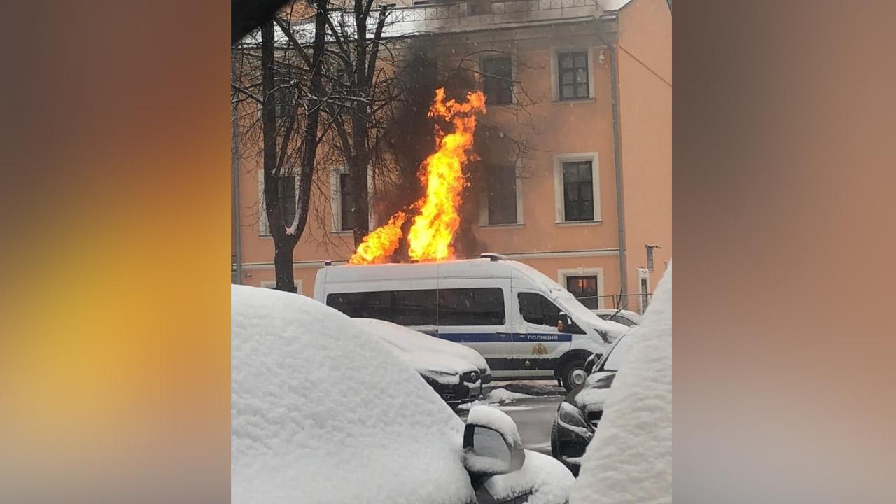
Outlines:
{"label": "dark tinted van window just behind the front cab door", "polygon": [[440,289],[439,326],[503,326],[500,288]]}

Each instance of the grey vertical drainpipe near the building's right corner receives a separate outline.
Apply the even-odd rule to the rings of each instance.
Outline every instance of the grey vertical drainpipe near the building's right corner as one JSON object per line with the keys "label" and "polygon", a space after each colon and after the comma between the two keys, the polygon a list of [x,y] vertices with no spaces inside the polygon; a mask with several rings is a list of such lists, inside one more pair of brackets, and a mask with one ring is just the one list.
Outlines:
{"label": "grey vertical drainpipe near the building's right corner", "polygon": [[625,260],[625,201],[623,198],[622,174],[622,133],[619,126],[619,79],[617,68],[616,40],[618,37],[617,11],[601,14],[603,39],[610,53],[610,92],[613,100],[613,158],[616,164],[616,219],[619,230],[619,293],[620,307],[628,304],[628,265]]}

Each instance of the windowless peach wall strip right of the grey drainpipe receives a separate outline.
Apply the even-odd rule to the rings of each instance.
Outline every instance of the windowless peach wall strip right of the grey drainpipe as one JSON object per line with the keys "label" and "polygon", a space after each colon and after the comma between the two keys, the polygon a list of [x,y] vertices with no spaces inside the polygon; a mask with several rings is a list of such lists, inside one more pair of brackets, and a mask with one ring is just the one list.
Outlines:
{"label": "windowless peach wall strip right of the grey drainpipe", "polygon": [[672,256],[672,15],[665,1],[632,0],[620,10],[617,53],[627,285],[638,292],[644,245],[657,244],[652,292]]}

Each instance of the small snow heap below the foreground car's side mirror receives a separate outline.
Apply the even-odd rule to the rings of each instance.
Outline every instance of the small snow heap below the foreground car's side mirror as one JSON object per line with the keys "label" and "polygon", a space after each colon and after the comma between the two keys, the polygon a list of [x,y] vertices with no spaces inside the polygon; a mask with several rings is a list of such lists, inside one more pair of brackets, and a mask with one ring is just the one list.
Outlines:
{"label": "small snow heap below the foreground car's side mirror", "polygon": [[519,471],[493,476],[485,487],[492,495],[519,495],[534,486],[538,490],[526,504],[556,504],[569,499],[574,482],[573,474],[556,459],[526,450],[526,460]]}

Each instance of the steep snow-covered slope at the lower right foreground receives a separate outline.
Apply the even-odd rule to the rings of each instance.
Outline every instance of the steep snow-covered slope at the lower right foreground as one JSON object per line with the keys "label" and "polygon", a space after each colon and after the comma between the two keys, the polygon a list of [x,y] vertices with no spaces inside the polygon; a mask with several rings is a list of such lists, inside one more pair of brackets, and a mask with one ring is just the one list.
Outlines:
{"label": "steep snow-covered slope at the lower right foreground", "polygon": [[570,501],[672,502],[671,264],[610,387]]}

